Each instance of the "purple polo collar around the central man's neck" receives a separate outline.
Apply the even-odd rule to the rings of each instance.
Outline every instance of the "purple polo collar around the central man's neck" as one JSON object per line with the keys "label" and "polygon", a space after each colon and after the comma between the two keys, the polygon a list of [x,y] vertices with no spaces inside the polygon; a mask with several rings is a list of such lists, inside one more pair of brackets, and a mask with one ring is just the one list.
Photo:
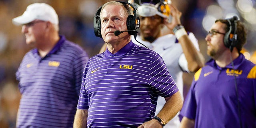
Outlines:
{"label": "purple polo collar around the central man's neck", "polygon": [[132,42],[132,40],[126,44],[123,48],[121,48],[118,52],[116,52],[115,54],[112,54],[108,48],[105,51],[105,56],[123,56],[125,55],[127,52],[129,52],[130,50],[132,50],[132,48],[135,46],[135,44]]}

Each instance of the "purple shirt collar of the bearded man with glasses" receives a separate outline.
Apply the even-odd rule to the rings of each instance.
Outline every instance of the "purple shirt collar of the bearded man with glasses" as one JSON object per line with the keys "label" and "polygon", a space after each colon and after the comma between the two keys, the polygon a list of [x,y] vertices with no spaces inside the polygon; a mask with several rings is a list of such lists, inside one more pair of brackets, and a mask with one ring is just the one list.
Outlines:
{"label": "purple shirt collar of the bearded man with glasses", "polygon": [[[245,57],[243,54],[239,54],[238,58],[236,58],[235,60],[233,60],[234,63],[234,69],[238,69],[238,67],[245,61]],[[214,59],[210,59],[208,62],[206,62],[206,65],[212,66],[214,68],[217,68],[219,70],[222,70],[223,68],[218,66],[215,62]],[[224,68],[233,68],[232,63],[228,64],[226,67]]]}

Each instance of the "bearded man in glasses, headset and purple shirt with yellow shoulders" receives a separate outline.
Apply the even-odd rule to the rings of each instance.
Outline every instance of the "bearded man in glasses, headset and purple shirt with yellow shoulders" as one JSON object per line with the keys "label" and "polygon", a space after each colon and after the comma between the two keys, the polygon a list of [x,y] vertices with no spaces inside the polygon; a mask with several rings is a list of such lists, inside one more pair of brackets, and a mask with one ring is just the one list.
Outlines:
{"label": "bearded man in glasses, headset and purple shirt with yellow shoulders", "polygon": [[236,16],[216,20],[205,40],[212,59],[194,75],[181,128],[255,128],[256,65],[240,53],[244,25]]}

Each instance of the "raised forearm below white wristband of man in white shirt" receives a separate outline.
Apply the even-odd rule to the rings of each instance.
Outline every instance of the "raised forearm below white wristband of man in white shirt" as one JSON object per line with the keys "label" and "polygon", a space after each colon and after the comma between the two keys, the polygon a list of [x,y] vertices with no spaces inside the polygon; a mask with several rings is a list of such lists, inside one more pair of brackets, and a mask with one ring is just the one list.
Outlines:
{"label": "raised forearm below white wristband of man in white shirt", "polygon": [[196,72],[199,68],[202,68],[205,62],[204,56],[196,49],[188,35],[181,36],[178,40],[188,62],[188,70]]}

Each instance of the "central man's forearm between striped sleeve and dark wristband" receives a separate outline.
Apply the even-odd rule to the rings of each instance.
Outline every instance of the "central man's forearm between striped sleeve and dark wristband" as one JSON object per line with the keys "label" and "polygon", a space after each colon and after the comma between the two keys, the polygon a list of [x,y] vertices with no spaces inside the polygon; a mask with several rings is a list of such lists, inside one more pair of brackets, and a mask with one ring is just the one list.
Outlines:
{"label": "central man's forearm between striped sleeve and dark wristband", "polygon": [[157,114],[164,122],[169,122],[182,108],[182,98],[180,92],[166,98],[166,103],[160,112]]}

